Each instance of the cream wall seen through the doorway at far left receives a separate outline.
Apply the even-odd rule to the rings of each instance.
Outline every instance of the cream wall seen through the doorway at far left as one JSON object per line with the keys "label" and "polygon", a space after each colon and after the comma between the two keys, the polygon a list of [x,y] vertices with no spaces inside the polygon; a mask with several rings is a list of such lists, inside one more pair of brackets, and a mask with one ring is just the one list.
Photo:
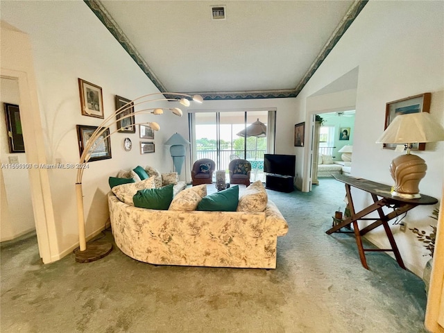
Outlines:
{"label": "cream wall seen through the doorway at far left", "polygon": [[[0,156],[1,164],[9,165],[9,157],[17,157],[19,164],[26,164],[26,153],[10,153],[6,128],[6,110],[3,103],[20,106],[19,84],[17,80],[1,78],[0,83],[1,114],[0,121]],[[28,169],[1,168],[1,228],[0,241],[8,241],[35,230],[31,187],[29,186]],[[4,214],[4,215],[3,215]]]}

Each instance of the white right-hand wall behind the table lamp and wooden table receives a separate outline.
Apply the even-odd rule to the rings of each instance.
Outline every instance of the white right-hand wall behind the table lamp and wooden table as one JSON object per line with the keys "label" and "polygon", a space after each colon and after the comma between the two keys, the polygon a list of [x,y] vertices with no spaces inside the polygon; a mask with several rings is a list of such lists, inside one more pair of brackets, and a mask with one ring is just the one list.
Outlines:
{"label": "white right-hand wall behind the table lamp and wooden table", "polygon": [[[309,96],[359,66],[353,176],[393,183],[388,165],[398,153],[375,144],[384,130],[387,102],[432,92],[430,113],[443,123],[443,11],[442,1],[369,1],[297,97],[297,110],[305,112]],[[427,144],[426,151],[416,153],[428,165],[420,191],[441,200],[444,142]],[[358,210],[370,203],[367,194],[353,194]],[[407,228],[427,230],[433,208],[411,210],[403,220]],[[421,275],[427,251],[409,230],[402,233],[397,226],[392,230],[407,268]],[[381,248],[388,246],[382,230],[370,232],[368,238]]]}

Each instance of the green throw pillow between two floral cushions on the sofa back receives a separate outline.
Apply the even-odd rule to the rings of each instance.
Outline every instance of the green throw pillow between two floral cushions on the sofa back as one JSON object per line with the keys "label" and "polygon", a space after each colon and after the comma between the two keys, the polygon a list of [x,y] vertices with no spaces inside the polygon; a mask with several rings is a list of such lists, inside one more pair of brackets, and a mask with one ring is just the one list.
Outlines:
{"label": "green throw pillow between two floral cushions on the sofa back", "polygon": [[210,212],[236,212],[239,203],[239,186],[228,187],[208,196],[204,196],[197,205],[197,210]]}

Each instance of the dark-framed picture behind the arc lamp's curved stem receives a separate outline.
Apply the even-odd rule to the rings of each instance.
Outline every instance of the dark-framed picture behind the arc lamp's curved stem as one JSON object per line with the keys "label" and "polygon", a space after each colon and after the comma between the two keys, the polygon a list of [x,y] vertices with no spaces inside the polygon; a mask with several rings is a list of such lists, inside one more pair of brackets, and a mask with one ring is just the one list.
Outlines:
{"label": "dark-framed picture behind the arc lamp's curved stem", "polygon": [[[97,126],[77,125],[78,151],[82,155],[88,139],[91,137]],[[106,160],[111,158],[110,128],[107,128],[102,135],[96,139],[96,144],[89,150],[91,157],[88,162]]]}

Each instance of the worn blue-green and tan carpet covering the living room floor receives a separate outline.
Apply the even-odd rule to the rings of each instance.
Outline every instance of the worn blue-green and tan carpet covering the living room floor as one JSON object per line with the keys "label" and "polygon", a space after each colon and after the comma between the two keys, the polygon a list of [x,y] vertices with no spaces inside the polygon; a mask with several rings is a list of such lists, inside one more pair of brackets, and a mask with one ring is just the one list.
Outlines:
{"label": "worn blue-green and tan carpet covering the living room floor", "polygon": [[341,182],[268,195],[289,223],[271,271],[152,266],[115,246],[43,265],[35,237],[1,244],[1,332],[427,332],[420,278],[384,253],[367,271],[352,236],[325,234]]}

